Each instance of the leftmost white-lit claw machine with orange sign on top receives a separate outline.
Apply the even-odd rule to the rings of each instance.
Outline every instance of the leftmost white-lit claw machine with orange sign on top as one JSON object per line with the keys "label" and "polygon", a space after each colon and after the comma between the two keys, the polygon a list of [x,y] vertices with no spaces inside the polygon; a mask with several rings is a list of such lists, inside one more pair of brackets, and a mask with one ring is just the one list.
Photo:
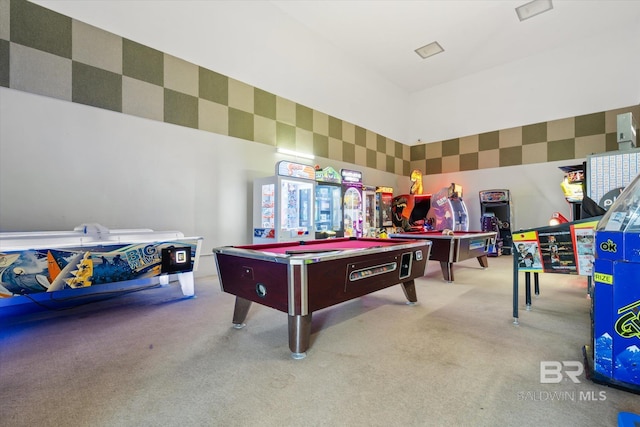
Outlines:
{"label": "leftmost white-lit claw machine with orange sign on top", "polygon": [[315,179],[312,166],[283,160],[275,176],[254,181],[253,243],[315,239]]}

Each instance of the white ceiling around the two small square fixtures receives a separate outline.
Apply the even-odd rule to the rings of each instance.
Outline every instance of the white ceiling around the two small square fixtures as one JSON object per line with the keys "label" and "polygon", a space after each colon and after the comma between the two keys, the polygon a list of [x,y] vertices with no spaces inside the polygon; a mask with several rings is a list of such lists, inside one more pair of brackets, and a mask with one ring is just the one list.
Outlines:
{"label": "white ceiling around the two small square fixtures", "polygon": [[[553,0],[551,11],[522,22],[515,8],[526,0],[271,3],[408,93],[640,25],[638,0]],[[444,52],[427,59],[415,53],[433,41]]]}

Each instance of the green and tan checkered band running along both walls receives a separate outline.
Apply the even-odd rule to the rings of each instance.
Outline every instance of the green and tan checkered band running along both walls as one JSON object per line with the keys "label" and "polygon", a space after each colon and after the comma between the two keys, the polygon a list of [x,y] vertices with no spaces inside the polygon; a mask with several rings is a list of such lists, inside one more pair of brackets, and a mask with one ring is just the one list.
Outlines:
{"label": "green and tan checkered band running along both walls", "polygon": [[616,111],[407,146],[26,0],[0,0],[0,86],[408,176],[616,150]]}

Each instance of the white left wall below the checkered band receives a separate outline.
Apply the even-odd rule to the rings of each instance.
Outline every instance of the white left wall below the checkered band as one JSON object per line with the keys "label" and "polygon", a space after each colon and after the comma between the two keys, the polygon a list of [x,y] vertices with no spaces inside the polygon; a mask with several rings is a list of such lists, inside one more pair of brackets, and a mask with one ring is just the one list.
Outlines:
{"label": "white left wall below the checkered band", "polygon": [[[212,248],[251,243],[253,180],[283,159],[296,161],[272,146],[0,88],[0,231],[179,230],[204,237],[198,274],[211,274]],[[315,163],[399,185],[387,172]]]}

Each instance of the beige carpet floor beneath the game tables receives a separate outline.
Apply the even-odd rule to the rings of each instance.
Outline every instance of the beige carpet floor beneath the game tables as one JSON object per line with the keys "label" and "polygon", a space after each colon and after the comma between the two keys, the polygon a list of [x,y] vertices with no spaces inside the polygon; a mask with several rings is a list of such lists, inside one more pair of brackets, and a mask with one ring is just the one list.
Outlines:
{"label": "beige carpet floor beneath the game tables", "polygon": [[[212,261],[210,257],[205,261]],[[430,262],[419,304],[399,286],[314,313],[311,348],[289,357],[286,314],[216,277],[71,310],[0,313],[2,426],[615,426],[640,397],[584,375],[541,384],[541,361],[582,361],[586,279],[541,276],[512,324],[511,257]],[[596,398],[587,399],[587,398]]]}

